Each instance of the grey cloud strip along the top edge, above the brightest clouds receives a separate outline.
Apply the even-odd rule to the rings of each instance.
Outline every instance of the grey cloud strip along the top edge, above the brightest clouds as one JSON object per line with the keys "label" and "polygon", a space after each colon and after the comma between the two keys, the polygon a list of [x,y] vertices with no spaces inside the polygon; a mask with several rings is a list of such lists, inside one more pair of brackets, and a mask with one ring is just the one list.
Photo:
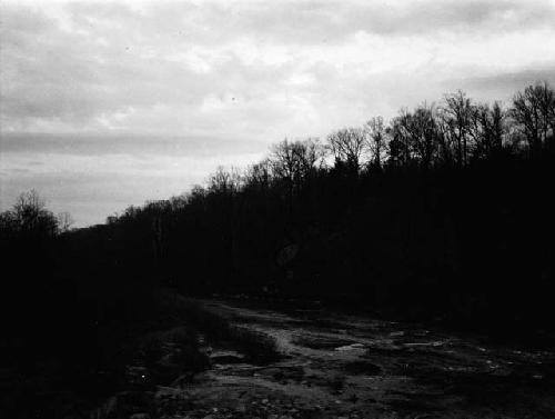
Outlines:
{"label": "grey cloud strip along the top edge, above the brightest clouds", "polygon": [[[170,28],[181,23],[183,34],[205,44],[220,43],[221,33],[306,44],[342,42],[356,31],[380,36],[514,31],[553,27],[555,18],[549,0],[219,1],[147,9],[157,20],[168,20]],[[176,10],[182,19],[175,20]]]}

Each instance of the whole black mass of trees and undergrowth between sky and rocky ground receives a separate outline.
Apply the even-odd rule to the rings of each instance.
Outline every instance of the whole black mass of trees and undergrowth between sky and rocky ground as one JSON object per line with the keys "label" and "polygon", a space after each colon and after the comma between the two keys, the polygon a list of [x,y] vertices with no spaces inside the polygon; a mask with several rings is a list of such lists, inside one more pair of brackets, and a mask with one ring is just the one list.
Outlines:
{"label": "whole black mass of trees and undergrowth between sky and rocky ground", "polygon": [[509,107],[456,92],[322,142],[284,140],[244,171],[218,169],[204,187],[104,225],[71,230],[37,193],[22,194],[0,216],[10,272],[0,345],[12,368],[3,371],[24,387],[53,368],[57,388],[101,397],[135,356],[125,350],[137,349],[133,337],[183,319],[174,343],[194,359],[191,370],[203,365],[200,332],[240,336],[251,356],[260,345],[273,352],[211,315],[176,315],[162,288],[320,299],[545,338],[555,315],[554,131],[546,83]]}

